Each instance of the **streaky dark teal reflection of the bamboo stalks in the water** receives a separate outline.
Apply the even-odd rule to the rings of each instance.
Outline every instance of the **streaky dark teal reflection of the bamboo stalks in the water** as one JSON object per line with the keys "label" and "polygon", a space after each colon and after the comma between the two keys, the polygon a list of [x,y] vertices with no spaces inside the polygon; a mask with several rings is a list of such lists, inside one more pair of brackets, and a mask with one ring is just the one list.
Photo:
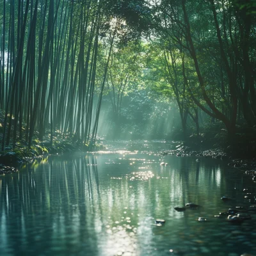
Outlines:
{"label": "streaky dark teal reflection of the bamboo stalks in the water", "polygon": [[64,255],[95,253],[100,220],[91,213],[102,216],[96,164],[93,156],[55,157],[38,169],[30,165],[1,177],[0,227],[7,228],[1,241],[18,254],[33,248],[52,253],[52,244]]}

